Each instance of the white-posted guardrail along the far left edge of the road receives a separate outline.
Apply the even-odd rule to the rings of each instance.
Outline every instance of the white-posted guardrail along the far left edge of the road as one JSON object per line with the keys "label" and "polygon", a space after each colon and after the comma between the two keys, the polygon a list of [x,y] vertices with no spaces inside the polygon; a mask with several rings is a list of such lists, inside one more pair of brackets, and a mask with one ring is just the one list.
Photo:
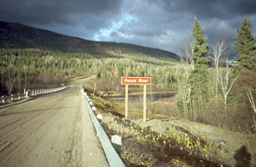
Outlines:
{"label": "white-posted guardrail along the far left edge of the road", "polygon": [[10,94],[10,96],[2,96],[1,102],[0,103],[5,103],[6,100],[21,100],[28,98],[29,96],[36,96],[39,94],[44,94],[44,93],[55,93],[58,91],[61,91],[67,87],[57,87],[57,88],[48,88],[48,89],[31,89],[27,90],[25,94]]}

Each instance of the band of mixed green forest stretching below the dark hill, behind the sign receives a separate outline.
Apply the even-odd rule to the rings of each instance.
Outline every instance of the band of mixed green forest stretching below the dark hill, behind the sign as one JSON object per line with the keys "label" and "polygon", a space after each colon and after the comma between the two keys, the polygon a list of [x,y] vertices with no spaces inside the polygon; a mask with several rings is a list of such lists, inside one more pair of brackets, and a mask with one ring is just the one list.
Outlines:
{"label": "band of mixed green forest stretching below the dark hill, behind the sign", "polygon": [[[23,88],[56,86],[71,77],[96,74],[108,80],[121,76],[153,76],[155,84],[175,87],[170,63],[135,61],[128,58],[95,59],[93,55],[52,52],[41,49],[0,49],[1,93],[21,93]],[[106,80],[108,82],[108,80]],[[115,83],[115,86],[120,81]]]}

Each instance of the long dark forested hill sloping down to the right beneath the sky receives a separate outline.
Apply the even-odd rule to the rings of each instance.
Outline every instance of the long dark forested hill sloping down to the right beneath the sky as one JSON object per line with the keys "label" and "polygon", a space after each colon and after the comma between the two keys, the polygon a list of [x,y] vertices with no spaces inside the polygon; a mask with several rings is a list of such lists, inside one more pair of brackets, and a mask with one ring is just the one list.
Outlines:
{"label": "long dark forested hill sloping down to the right beneath the sky", "polygon": [[40,48],[100,57],[129,57],[144,61],[148,58],[161,61],[179,60],[174,53],[158,48],[118,42],[94,42],[11,22],[0,22],[0,48]]}

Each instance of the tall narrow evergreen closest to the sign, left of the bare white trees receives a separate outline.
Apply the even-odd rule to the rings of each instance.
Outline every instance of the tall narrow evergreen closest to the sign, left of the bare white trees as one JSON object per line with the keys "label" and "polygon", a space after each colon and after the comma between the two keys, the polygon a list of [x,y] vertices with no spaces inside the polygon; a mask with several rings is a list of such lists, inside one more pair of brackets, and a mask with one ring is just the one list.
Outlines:
{"label": "tall narrow evergreen closest to the sign, left of the bare white trees", "polygon": [[200,22],[194,17],[194,48],[192,58],[194,60],[194,69],[189,74],[189,81],[192,86],[192,100],[194,104],[194,111],[199,112],[196,118],[202,118],[202,112],[207,100],[207,37],[203,36],[203,29]]}

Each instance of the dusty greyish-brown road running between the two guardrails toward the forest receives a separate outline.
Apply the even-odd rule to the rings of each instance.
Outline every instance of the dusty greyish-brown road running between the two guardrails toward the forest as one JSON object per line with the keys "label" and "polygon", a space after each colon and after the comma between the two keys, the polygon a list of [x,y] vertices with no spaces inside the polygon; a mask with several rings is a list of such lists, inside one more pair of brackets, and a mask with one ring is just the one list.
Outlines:
{"label": "dusty greyish-brown road running between the two guardrails toward the forest", "polygon": [[0,109],[0,166],[108,166],[81,94],[67,89]]}

